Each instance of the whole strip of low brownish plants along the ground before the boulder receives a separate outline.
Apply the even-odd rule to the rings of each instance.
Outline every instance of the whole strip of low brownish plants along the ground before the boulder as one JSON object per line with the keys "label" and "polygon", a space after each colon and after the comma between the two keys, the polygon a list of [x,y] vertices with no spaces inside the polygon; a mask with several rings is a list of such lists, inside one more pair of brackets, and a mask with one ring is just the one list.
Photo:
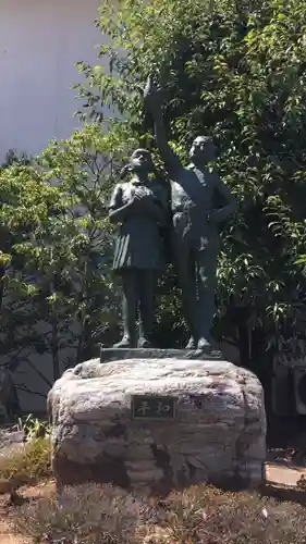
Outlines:
{"label": "whole strip of low brownish plants along the ground before the boulder", "polygon": [[36,544],[304,544],[306,534],[299,505],[205,485],[145,500],[85,484],[15,509],[12,521]]}

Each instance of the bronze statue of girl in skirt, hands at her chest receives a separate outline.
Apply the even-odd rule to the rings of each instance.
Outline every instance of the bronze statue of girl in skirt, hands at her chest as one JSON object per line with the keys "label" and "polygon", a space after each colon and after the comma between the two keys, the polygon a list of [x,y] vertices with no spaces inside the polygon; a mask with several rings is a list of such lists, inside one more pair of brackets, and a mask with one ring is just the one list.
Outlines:
{"label": "bronze statue of girl in skirt, hands at her chest", "polygon": [[[121,274],[123,287],[123,338],[114,347],[151,347],[154,302],[158,274],[164,268],[161,227],[168,218],[166,188],[156,177],[151,156],[136,149],[109,205],[109,218],[119,224],[113,270]],[[139,337],[136,322],[139,310]]]}

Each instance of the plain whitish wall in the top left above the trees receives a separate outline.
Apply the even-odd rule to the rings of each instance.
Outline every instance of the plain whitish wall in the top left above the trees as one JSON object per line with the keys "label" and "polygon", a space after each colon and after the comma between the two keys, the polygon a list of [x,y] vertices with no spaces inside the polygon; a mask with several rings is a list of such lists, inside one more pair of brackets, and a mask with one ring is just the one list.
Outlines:
{"label": "plain whitish wall in the top left above the trees", "polygon": [[77,127],[75,63],[97,63],[99,0],[0,0],[0,163]]}

